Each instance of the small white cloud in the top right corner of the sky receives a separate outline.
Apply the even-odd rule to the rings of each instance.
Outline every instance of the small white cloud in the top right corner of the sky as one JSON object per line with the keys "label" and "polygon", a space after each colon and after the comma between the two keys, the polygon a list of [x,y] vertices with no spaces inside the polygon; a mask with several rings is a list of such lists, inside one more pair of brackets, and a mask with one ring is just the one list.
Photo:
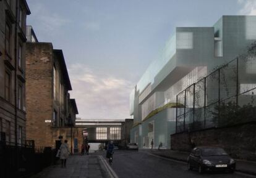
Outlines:
{"label": "small white cloud in the top right corner of the sky", "polygon": [[242,5],[242,9],[239,10],[240,15],[256,15],[255,0],[238,0],[237,3]]}

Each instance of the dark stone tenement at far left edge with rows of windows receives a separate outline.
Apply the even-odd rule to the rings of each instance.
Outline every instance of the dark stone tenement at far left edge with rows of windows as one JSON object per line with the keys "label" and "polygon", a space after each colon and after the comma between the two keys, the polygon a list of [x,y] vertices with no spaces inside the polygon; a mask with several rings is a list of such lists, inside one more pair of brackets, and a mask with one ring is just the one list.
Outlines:
{"label": "dark stone tenement at far left edge with rows of windows", "polygon": [[7,144],[25,143],[25,0],[0,1],[0,132]]}

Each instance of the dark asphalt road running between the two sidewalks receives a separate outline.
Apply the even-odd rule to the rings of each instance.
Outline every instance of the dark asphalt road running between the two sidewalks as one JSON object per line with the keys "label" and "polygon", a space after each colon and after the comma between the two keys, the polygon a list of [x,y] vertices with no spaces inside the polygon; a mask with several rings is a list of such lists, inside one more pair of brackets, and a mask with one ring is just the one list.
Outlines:
{"label": "dark asphalt road running between the two sidewalks", "polygon": [[197,171],[188,171],[185,163],[129,150],[115,150],[111,168],[119,178],[253,177],[240,173],[228,174],[223,172],[199,174]]}

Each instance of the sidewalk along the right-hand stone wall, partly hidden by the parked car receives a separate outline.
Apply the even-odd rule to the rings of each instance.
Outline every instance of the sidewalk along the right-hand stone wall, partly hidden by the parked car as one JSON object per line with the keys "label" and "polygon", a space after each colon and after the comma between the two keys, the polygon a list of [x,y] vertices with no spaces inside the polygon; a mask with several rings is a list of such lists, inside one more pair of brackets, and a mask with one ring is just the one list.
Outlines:
{"label": "sidewalk along the right-hand stone wall, partly hidden by the parked car", "polygon": [[[140,151],[148,152],[154,155],[162,156],[164,158],[170,158],[173,160],[183,161],[183,162],[187,162],[187,157],[189,156],[189,153],[187,152],[178,152],[174,150],[140,149]],[[236,171],[243,172],[246,174],[252,174],[256,176],[256,162],[236,160]]]}

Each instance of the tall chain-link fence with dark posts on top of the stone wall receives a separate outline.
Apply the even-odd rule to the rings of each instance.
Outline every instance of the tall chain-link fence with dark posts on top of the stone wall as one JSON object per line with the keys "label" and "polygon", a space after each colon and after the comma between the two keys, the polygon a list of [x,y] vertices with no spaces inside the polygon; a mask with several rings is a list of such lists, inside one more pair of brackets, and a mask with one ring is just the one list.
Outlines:
{"label": "tall chain-link fence with dark posts on top of the stone wall", "polygon": [[255,44],[176,96],[176,132],[256,121]]}

